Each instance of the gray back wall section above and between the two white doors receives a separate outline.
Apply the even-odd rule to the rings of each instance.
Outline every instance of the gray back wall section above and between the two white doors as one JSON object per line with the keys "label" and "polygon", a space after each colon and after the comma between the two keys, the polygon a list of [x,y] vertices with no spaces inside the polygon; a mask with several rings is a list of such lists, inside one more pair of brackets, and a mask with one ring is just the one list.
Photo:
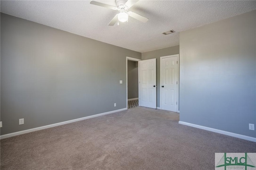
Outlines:
{"label": "gray back wall section above and between the two white doors", "polygon": [[160,107],[160,57],[180,53],[180,46],[157,49],[142,53],[142,60],[156,58],[156,106]]}

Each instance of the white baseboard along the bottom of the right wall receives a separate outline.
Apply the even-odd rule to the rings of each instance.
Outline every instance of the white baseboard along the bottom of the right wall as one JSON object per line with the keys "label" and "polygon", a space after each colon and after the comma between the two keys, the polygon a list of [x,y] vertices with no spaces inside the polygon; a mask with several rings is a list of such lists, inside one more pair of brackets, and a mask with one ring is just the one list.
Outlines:
{"label": "white baseboard along the bottom of the right wall", "polygon": [[179,121],[179,124],[187,125],[187,126],[195,127],[195,128],[200,128],[200,129],[203,129],[203,130],[208,130],[208,131],[216,132],[216,133],[220,133],[220,134],[225,134],[225,135],[228,135],[228,136],[233,136],[233,137],[241,138],[241,139],[244,139],[244,140],[250,140],[252,142],[256,142],[256,138],[250,137],[250,136],[245,136],[245,135],[242,135],[242,134],[236,134],[236,133],[227,132],[227,131],[224,131],[224,130],[219,130],[219,129],[210,128],[210,127],[204,127],[204,126],[201,126],[201,125],[195,125],[195,124],[192,124],[192,123],[187,123],[187,122],[182,122],[182,121]]}

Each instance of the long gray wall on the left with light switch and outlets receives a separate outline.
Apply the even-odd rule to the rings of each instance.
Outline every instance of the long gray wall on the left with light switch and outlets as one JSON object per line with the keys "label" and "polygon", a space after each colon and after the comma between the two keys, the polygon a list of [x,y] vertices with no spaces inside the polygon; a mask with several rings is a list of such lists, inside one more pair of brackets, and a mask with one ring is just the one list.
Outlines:
{"label": "long gray wall on the left with light switch and outlets", "polygon": [[126,108],[126,56],[141,59],[1,13],[1,135]]}

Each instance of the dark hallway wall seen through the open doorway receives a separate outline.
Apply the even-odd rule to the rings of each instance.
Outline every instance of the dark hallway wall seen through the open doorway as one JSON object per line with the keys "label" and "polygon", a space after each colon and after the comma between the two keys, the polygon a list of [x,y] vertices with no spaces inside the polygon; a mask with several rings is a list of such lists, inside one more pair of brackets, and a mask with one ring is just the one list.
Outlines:
{"label": "dark hallway wall seen through the open doorway", "polygon": [[137,61],[127,62],[128,99],[138,98],[138,63]]}

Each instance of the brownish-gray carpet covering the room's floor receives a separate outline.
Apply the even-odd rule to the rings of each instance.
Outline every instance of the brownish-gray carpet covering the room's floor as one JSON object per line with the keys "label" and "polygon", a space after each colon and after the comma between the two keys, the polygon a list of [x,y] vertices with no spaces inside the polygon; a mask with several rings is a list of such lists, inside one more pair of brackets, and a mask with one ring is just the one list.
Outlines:
{"label": "brownish-gray carpet covering the room's floor", "polygon": [[1,170],[214,170],[215,152],[256,143],[179,125],[178,113],[134,107],[1,140]]}

